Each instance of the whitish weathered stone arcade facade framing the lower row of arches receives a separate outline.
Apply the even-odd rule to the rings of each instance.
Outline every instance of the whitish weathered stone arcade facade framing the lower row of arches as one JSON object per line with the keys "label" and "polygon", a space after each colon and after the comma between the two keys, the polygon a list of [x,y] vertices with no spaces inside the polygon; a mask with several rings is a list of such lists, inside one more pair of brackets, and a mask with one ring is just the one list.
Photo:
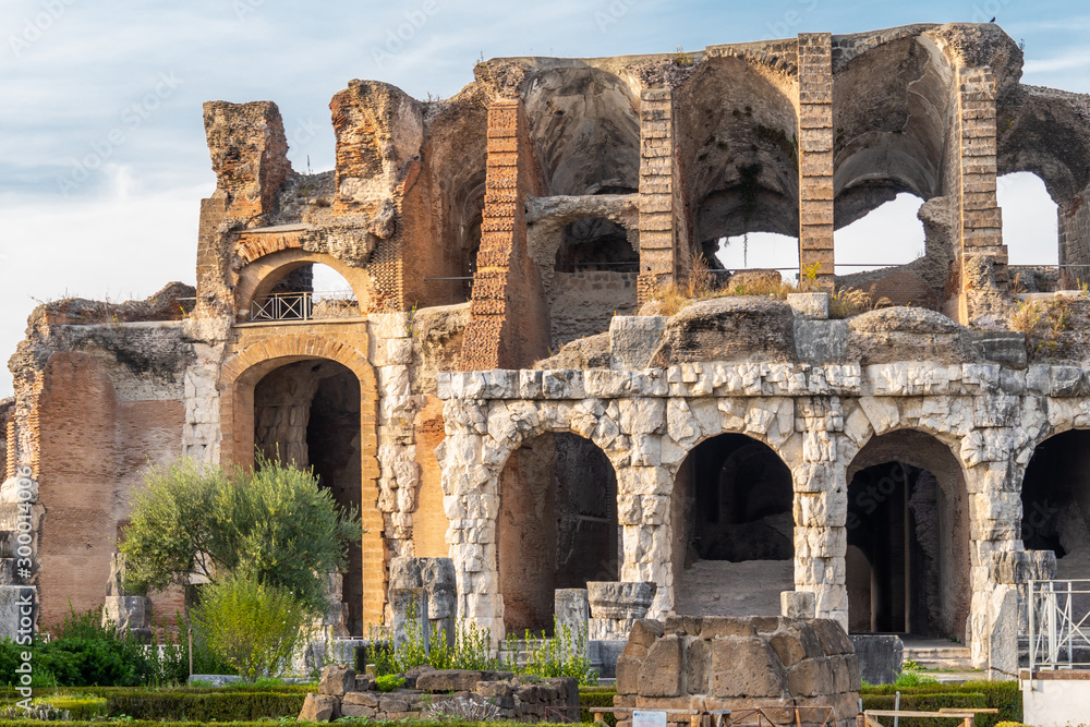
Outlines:
{"label": "whitish weathered stone arcade facade framing the lower row of arches", "polygon": [[[795,584],[818,614],[847,623],[846,467],[873,437],[898,429],[945,445],[965,477],[969,635],[984,652],[994,554],[1021,547],[1018,487],[1034,446],[1090,422],[1070,366],[994,363],[692,363],[639,371],[496,371],[440,377],[448,437],[437,455],[449,498],[448,540],[460,613],[497,633],[498,481],[510,452],[543,432],[572,432],[617,469],[621,580],[651,581],[652,615],[674,605],[669,502],[678,467],[705,438],[746,434],[771,446],[795,481]],[[471,484],[473,483],[473,484]]]}

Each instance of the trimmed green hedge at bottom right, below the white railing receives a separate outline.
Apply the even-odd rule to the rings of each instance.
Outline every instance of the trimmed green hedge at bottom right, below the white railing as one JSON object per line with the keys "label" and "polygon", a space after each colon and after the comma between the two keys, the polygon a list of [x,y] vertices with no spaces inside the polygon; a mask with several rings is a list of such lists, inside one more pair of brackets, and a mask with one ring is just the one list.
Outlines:
{"label": "trimmed green hedge at bottom right, below the white railing", "polygon": [[[1001,722],[1020,722],[1021,691],[1017,681],[970,681],[964,684],[921,684],[898,689],[893,684],[864,687],[859,695],[864,710],[892,710],[896,703],[896,692],[900,692],[901,710],[937,712],[942,707],[985,707],[996,708],[997,715],[982,714],[977,717],[978,727],[995,727]],[[946,720],[901,719],[904,727],[946,727]],[[952,727],[960,724],[952,719]]]}

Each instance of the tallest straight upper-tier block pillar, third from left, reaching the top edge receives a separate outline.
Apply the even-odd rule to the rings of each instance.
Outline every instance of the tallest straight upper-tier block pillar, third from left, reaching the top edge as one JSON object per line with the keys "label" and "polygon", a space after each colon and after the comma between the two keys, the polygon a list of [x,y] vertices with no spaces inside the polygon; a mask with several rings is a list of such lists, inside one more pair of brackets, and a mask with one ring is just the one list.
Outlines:
{"label": "tallest straight upper-tier block pillar, third from left, reaching the top edge", "polygon": [[833,36],[799,34],[799,281],[833,289]]}

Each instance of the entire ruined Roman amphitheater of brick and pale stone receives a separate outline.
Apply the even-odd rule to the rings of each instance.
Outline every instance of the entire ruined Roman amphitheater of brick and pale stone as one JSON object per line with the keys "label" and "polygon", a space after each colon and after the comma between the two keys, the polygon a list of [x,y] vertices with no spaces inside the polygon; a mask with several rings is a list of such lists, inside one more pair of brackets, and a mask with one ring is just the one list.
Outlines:
{"label": "entire ruined Roman amphitheater of brick and pale stone", "polygon": [[[352,81],[317,174],[274,104],[206,104],[195,290],[41,305],[10,362],[41,623],[102,603],[149,462],[256,448],[362,510],[339,633],[387,619],[391,558],[450,557],[494,635],[651,583],[651,617],[809,607],[1013,673],[1021,584],[1090,577],[1090,97],[1021,68],[922,24],[496,59],[426,102]],[[1019,171],[1058,268],[1008,265]],[[835,276],[834,230],[899,193],[925,250]],[[715,252],[749,232],[798,239],[799,292],[740,294]],[[698,274],[739,294],[664,306]]]}

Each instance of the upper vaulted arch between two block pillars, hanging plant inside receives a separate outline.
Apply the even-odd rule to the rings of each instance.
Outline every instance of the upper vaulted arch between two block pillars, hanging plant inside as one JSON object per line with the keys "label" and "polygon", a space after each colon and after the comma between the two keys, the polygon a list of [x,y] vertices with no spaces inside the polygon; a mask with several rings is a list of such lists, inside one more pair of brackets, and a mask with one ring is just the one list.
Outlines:
{"label": "upper vaulted arch between two block pillars, hanging plant inside", "polygon": [[725,270],[797,270],[798,114],[785,88],[750,61],[717,57],[675,98],[693,250],[723,278]]}

